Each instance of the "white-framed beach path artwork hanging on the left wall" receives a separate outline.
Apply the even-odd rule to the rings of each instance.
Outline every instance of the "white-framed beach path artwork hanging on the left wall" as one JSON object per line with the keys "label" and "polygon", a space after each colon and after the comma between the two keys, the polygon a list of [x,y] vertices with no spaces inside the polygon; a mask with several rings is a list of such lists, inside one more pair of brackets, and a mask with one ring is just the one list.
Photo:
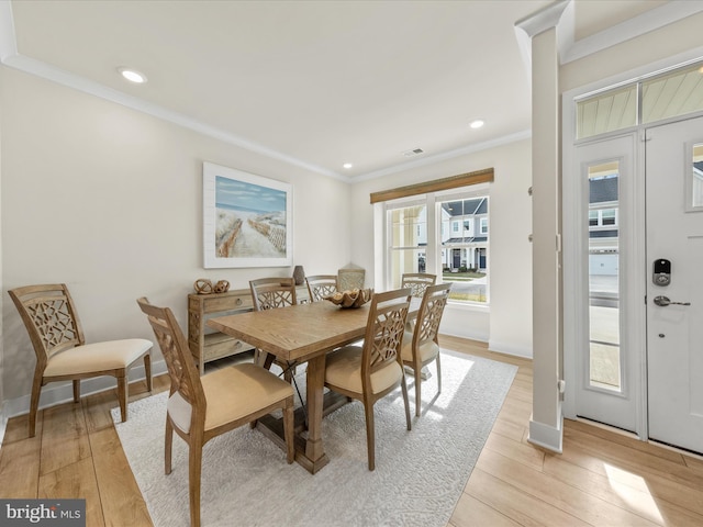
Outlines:
{"label": "white-framed beach path artwork hanging on the left wall", "polygon": [[292,265],[292,186],[203,162],[204,267]]}

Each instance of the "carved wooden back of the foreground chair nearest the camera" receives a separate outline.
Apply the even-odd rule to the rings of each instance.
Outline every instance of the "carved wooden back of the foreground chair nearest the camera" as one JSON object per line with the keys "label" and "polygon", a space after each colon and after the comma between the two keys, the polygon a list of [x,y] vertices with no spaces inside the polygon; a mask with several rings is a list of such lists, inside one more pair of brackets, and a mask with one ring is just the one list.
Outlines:
{"label": "carved wooden back of the foreground chair nearest the camera", "polygon": [[179,392],[191,406],[203,408],[202,412],[193,412],[192,415],[198,414],[204,419],[205,396],[200,374],[174,313],[168,307],[152,305],[146,298],[138,299],[137,304],[147,316],[166,361],[168,377],[171,380],[170,395]]}

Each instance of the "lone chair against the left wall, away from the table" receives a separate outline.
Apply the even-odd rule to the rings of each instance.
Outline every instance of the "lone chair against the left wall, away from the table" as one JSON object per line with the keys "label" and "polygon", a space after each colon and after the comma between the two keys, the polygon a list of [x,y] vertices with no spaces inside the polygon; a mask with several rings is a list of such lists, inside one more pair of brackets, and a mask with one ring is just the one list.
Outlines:
{"label": "lone chair against the left wall, away from the table", "polygon": [[30,334],[36,367],[30,399],[30,437],[36,430],[42,386],[72,381],[74,401],[80,400],[80,380],[111,375],[118,380],[122,421],[127,419],[127,370],[144,360],[146,388],[152,391],[152,343],[143,338],[86,344],[74,301],[64,283],[26,285],[8,291]]}

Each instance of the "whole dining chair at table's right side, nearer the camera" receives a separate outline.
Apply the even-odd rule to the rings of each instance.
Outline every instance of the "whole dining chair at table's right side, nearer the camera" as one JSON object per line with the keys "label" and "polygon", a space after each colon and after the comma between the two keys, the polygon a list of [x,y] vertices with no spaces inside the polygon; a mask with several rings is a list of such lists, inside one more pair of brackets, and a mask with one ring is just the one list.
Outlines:
{"label": "whole dining chair at table's right side, nearer the camera", "polygon": [[364,403],[369,470],[376,468],[373,405],[399,385],[411,429],[405,373],[400,360],[410,290],[376,293],[371,300],[364,346],[346,346],[326,357],[325,386]]}

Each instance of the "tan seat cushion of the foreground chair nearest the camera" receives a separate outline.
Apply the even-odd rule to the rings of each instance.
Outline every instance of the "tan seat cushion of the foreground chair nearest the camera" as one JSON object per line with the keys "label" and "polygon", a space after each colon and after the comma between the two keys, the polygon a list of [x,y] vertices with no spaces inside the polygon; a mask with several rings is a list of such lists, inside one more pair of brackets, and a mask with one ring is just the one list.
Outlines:
{"label": "tan seat cushion of the foreground chair nearest the camera", "polygon": [[[213,371],[200,378],[208,401],[205,430],[241,419],[266,406],[293,395],[293,388],[274,373],[250,362]],[[190,430],[190,404],[174,393],[168,400],[168,414],[174,424]]]}

